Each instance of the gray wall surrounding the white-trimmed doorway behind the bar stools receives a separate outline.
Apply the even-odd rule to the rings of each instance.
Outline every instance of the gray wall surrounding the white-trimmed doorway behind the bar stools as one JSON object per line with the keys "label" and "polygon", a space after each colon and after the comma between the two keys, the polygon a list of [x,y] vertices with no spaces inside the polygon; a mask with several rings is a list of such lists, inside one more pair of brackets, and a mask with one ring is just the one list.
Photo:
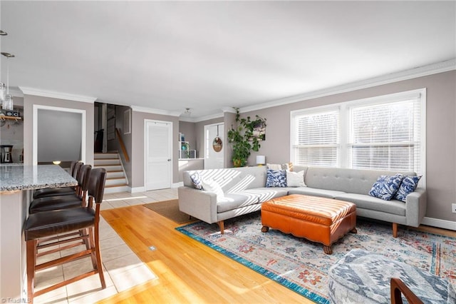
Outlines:
{"label": "gray wall surrounding the white-trimmed doorway behind the bar stools", "polygon": [[[93,166],[93,103],[24,95],[24,164],[32,163],[33,105],[76,108],[86,111],[86,163]],[[57,128],[58,126],[56,126]],[[84,152],[83,152],[84,153]]]}

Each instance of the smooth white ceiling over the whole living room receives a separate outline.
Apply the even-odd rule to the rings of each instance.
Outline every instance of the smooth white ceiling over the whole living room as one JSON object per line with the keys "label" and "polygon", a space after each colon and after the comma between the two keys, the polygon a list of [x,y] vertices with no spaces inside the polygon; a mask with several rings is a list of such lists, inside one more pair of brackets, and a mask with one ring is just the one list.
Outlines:
{"label": "smooth white ceiling over the whole living room", "polygon": [[455,59],[455,4],[1,1],[1,51],[10,86],[198,118]]}

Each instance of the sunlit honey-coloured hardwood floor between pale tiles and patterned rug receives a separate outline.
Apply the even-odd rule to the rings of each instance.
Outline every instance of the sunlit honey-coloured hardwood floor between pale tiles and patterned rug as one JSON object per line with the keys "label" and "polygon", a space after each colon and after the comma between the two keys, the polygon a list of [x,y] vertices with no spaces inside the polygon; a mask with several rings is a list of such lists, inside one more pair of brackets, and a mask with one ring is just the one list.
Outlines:
{"label": "sunlit honey-coloured hardwood floor between pale tiles and patterned rug", "polygon": [[101,214],[158,279],[99,303],[313,303],[183,235],[175,230],[179,224],[143,206]]}

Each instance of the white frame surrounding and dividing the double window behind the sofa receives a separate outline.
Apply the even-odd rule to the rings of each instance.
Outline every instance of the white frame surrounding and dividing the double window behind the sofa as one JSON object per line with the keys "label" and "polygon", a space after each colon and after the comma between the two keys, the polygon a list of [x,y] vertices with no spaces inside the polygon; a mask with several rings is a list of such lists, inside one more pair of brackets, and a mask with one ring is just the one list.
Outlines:
{"label": "white frame surrounding and dividing the double window behind the sofa", "polygon": [[[403,91],[398,93],[390,93],[381,96],[373,96],[369,98],[356,99],[352,101],[344,101],[341,103],[332,103],[325,106],[316,106],[312,108],[302,108],[295,111],[290,111],[290,160],[296,163],[296,138],[298,128],[296,126],[296,118],[302,115],[309,115],[312,113],[321,113],[324,111],[333,111],[338,108],[339,111],[339,145],[337,151],[337,165],[338,168],[351,168],[349,163],[349,137],[351,126],[351,116],[349,108],[354,106],[378,106],[385,103],[395,103],[406,101],[410,99],[418,99],[420,103],[420,171],[416,172],[423,175],[420,180],[420,187],[425,188],[426,185],[426,88],[418,88],[410,91]],[[297,164],[297,163],[296,163]],[[304,165],[306,166],[306,165]],[[367,169],[368,170],[368,169]],[[375,170],[375,169],[373,169]],[[383,170],[383,169],[378,169]],[[391,169],[395,170],[395,169]],[[403,170],[398,170],[403,171]],[[413,168],[416,171],[416,168]]]}

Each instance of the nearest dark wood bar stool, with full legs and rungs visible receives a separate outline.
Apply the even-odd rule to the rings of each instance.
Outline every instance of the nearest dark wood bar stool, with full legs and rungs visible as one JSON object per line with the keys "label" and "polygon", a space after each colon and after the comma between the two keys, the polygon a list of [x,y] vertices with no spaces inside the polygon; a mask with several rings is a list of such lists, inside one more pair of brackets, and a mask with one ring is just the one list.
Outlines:
{"label": "nearest dark wood bar stool, with full legs and rungs visible", "polygon": [[[100,276],[101,288],[104,289],[106,287],[101,263],[98,232],[100,205],[103,201],[105,181],[105,169],[93,169],[90,171],[88,179],[88,204],[86,207],[80,206],[78,208],[38,212],[28,216],[24,227],[24,235],[26,240],[27,293],[28,298],[31,299],[31,303],[33,303],[33,297],[96,273]],[[95,209],[93,208],[94,204]],[[88,233],[81,235],[81,230],[88,230]],[[68,233],[73,233],[73,237],[62,240],[61,235],[66,234],[66,237],[68,237]],[[46,238],[50,243],[46,242],[46,244],[43,245],[38,244],[43,238]],[[87,243],[88,248],[85,247],[81,252],[36,265],[36,259],[41,255],[55,253]],[[58,245],[58,247],[55,248],[55,245]],[[49,249],[51,247],[53,247],[53,249]],[[48,250],[46,250],[46,248],[48,248]],[[86,257],[91,258],[93,270],[74,278],[66,278],[62,282],[47,288],[37,291],[34,290],[36,271]],[[88,286],[88,288],[91,288],[91,286]]]}

